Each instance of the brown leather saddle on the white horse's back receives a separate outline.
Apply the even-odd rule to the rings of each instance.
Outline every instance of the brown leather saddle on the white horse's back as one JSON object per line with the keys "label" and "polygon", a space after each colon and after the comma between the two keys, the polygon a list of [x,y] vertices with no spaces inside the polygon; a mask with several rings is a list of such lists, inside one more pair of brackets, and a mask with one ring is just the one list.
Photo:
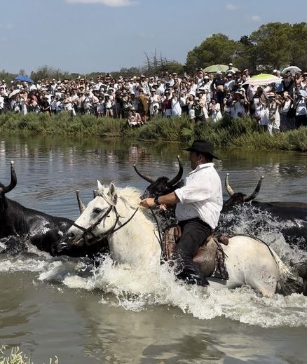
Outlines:
{"label": "brown leather saddle on the white horse's back", "polygon": [[[176,244],[181,236],[179,226],[170,227],[163,234],[163,257],[171,267],[174,264]],[[214,234],[213,231],[195,253],[193,262],[198,265],[204,277],[214,277],[226,281],[229,276],[225,263],[226,254],[221,244],[228,245],[228,237]]]}

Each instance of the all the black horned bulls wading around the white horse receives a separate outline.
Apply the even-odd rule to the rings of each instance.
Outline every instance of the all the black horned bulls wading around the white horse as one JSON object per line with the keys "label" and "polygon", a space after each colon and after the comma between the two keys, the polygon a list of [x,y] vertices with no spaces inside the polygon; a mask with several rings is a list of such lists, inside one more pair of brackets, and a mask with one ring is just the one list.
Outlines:
{"label": "all the black horned bulls wading around the white horse", "polygon": [[[181,187],[183,168],[179,162],[179,171],[172,179],[158,177],[154,180],[149,175],[139,172],[134,166],[136,173],[142,177],[149,186],[141,196],[155,197],[169,194]],[[230,198],[224,202],[221,211],[221,219],[218,231],[231,231],[229,229],[240,219],[240,207],[249,204],[249,208],[255,213],[266,212],[275,218],[280,227],[280,233],[285,241],[292,246],[306,250],[307,248],[307,203],[297,202],[259,202],[254,200],[261,188],[263,177],[259,180],[256,189],[250,196],[240,192],[234,192],[228,183],[226,175],[225,186]],[[57,217],[42,213],[31,208],[26,208],[20,203],[7,198],[6,194],[12,191],[17,184],[14,163],[11,162],[11,182],[8,186],[0,183],[0,243],[1,252],[4,254],[18,254],[27,249],[28,244],[35,245],[39,250],[48,252],[50,255],[67,255],[69,257],[90,257],[93,262],[98,262],[99,257],[108,252],[107,239],[85,244],[82,247],[71,246],[65,243],[67,231],[74,224],[72,220],[65,217]],[[95,195],[94,195],[95,197]],[[82,213],[83,203],[77,194],[79,208]],[[172,217],[172,210],[163,219],[169,222]],[[162,227],[167,225],[161,223]],[[303,292],[307,294],[307,264],[303,262],[299,267],[299,275],[303,278]]]}

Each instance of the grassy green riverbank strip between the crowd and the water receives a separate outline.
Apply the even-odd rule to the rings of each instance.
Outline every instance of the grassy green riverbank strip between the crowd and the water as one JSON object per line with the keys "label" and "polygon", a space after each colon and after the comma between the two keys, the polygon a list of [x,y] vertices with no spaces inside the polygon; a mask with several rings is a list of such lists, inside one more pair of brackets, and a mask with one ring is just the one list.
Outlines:
{"label": "grassy green riverbank strip between the crowd and the water", "polygon": [[93,115],[21,114],[0,115],[0,133],[67,135],[83,137],[131,137],[141,140],[191,142],[209,139],[219,147],[244,147],[248,149],[275,149],[307,151],[307,128],[269,135],[250,117],[230,119],[219,123],[194,124],[182,118],[157,118],[141,128],[130,128],[125,120],[96,118]]}

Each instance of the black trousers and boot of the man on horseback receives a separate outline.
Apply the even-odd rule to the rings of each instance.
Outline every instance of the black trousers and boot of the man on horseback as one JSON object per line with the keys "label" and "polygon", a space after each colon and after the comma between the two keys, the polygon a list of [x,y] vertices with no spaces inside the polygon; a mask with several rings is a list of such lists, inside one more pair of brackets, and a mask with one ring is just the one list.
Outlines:
{"label": "black trousers and boot of the man on horseback", "polygon": [[193,262],[193,256],[203,245],[205,239],[211,235],[212,229],[198,217],[179,222],[179,226],[182,229],[182,236],[177,243],[178,265],[175,274],[177,278],[183,279],[186,283],[206,285],[207,280]]}

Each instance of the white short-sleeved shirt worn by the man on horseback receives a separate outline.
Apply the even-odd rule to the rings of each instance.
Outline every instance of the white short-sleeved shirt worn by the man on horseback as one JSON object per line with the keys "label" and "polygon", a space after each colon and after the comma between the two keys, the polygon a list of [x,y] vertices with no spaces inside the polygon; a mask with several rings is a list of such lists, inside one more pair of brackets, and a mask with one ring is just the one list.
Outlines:
{"label": "white short-sleeved shirt worn by the man on horseback", "polygon": [[176,205],[176,217],[179,221],[199,217],[217,227],[223,207],[221,179],[214,169],[214,163],[200,164],[186,177],[184,187],[175,190],[179,203]]}

